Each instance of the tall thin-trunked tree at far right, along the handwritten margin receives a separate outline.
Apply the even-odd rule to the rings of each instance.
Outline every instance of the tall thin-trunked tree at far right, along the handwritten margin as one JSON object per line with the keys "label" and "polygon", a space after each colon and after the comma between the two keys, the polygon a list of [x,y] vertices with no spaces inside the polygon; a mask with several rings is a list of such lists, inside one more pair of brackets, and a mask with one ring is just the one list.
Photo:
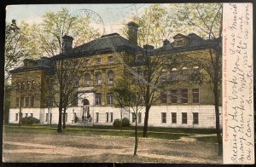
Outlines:
{"label": "tall thin-trunked tree at far right, along the handwritten margin", "polygon": [[208,49],[210,59],[195,58],[188,56],[190,60],[197,61],[207,71],[213,85],[214,107],[216,116],[216,134],[218,138],[218,155],[222,154],[222,135],[219,124],[219,92],[221,85],[221,36],[222,36],[222,4],[221,3],[197,3],[179,4],[172,6],[170,15],[173,24],[180,28],[182,32],[198,32],[202,37],[212,41],[211,48]]}

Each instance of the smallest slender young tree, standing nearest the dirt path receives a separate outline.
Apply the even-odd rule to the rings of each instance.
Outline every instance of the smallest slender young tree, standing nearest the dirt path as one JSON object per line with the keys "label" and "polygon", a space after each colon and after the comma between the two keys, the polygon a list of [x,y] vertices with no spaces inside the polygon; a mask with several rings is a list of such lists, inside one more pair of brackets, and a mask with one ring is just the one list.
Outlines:
{"label": "smallest slender young tree, standing nearest the dirt path", "polygon": [[[129,79],[120,78],[114,88],[112,89],[114,95],[114,107],[120,107],[125,109],[129,107],[128,112],[133,113],[135,119],[134,126],[134,152],[133,155],[137,155],[138,136],[137,136],[137,117],[138,113],[143,109],[143,98],[137,91],[136,87],[131,86]],[[131,108],[131,110],[130,110]],[[133,119],[132,118],[132,119]]]}

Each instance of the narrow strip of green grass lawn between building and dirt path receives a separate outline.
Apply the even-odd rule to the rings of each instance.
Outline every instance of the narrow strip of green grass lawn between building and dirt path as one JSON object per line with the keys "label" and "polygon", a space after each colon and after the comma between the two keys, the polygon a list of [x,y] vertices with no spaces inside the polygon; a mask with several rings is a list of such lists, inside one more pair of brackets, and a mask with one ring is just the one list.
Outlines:
{"label": "narrow strip of green grass lawn between building and dirt path", "polygon": [[[134,127],[123,127],[120,131],[119,128],[113,126],[71,126],[67,125],[67,129],[63,133],[56,132],[57,125],[22,125],[20,128],[17,124],[4,125],[5,133],[28,133],[28,134],[45,134],[45,135],[113,135],[133,137]],[[178,140],[182,136],[193,134],[214,134],[214,130],[196,130],[196,129],[173,129],[173,128],[160,128],[149,127],[148,137],[155,139],[165,140]],[[138,136],[143,137],[143,127],[138,127]],[[198,137],[198,141],[216,142],[216,137],[206,136]]]}

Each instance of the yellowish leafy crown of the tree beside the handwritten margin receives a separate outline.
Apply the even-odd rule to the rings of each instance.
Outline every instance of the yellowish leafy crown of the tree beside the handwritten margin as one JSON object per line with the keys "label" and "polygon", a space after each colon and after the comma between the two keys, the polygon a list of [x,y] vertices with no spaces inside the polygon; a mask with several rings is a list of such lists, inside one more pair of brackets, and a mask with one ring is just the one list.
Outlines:
{"label": "yellowish leafy crown of the tree beside the handwritten margin", "polygon": [[172,26],[178,32],[219,37],[222,3],[178,3],[170,4],[168,9]]}

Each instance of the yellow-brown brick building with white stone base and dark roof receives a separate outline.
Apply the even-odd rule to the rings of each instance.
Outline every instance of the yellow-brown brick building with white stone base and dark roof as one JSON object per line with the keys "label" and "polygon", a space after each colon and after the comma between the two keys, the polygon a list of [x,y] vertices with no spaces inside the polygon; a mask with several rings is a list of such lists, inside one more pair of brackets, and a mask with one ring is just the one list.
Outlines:
{"label": "yellow-brown brick building with white stone base and dark roof", "polygon": [[[84,77],[77,82],[74,94],[76,101],[72,107],[67,108],[67,124],[112,125],[115,118],[120,118],[120,109],[113,107],[114,97],[110,89],[120,76],[131,77],[133,84],[136,84],[134,78],[137,78],[132,76],[127,66],[132,65],[130,67],[133,69],[143,66],[143,50],[147,50],[153,59],[155,55],[166,54],[186,54],[195,58],[210,59],[207,49],[214,46],[214,41],[205,40],[195,33],[188,36],[177,34],[172,43],[164,40],[159,49],[150,45],[142,48],[137,45],[137,24],[130,22],[128,26],[128,39],[113,33],[76,48],[72,47],[73,37],[63,37],[63,55],[74,60],[84,60],[86,64],[86,69],[81,67],[80,70]],[[54,101],[47,98],[45,88],[49,84],[49,90],[51,81],[55,79],[56,65],[53,59],[63,55],[24,60],[24,66],[12,72],[15,89],[11,96],[9,123],[19,123],[21,110],[22,117],[38,118],[41,124],[58,124],[58,107],[55,107]],[[164,93],[160,93],[159,102],[151,107],[149,126],[215,128],[212,85],[209,82],[189,82],[190,74],[198,72],[209,81],[207,72],[201,69],[196,61],[162,69],[162,82],[172,82],[166,84],[162,91]],[[192,79],[196,79],[195,76]],[[133,124],[132,114],[126,110],[122,112],[123,117],[129,118]],[[144,111],[138,115],[138,125],[143,125],[143,119]]]}

